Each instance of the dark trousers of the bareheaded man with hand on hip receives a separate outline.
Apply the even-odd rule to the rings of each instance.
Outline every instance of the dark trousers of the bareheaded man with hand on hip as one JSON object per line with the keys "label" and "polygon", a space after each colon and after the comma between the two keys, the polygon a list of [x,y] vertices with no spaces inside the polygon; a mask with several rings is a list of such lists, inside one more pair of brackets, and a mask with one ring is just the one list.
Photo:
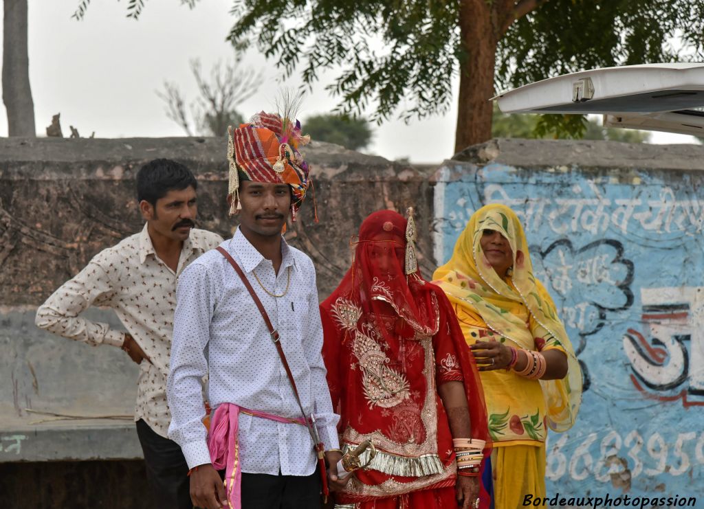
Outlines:
{"label": "dark trousers of the bareheaded man with hand on hip", "polygon": [[192,509],[188,465],[181,447],[154,432],[144,420],[137,421],[137,436],[142,444],[146,478],[154,506],[163,509]]}

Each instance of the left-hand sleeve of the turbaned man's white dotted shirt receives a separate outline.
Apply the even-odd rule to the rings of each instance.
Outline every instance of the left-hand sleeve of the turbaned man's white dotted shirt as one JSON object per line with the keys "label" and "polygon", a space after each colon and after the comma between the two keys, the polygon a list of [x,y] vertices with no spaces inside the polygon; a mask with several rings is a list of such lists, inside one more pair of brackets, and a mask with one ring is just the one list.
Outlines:
{"label": "left-hand sleeve of the turbaned man's white dotted shirt", "polygon": [[210,340],[215,285],[205,266],[191,264],[176,289],[166,397],[171,411],[169,438],[181,446],[189,468],[210,464],[203,425],[201,379],[208,372],[204,349]]}

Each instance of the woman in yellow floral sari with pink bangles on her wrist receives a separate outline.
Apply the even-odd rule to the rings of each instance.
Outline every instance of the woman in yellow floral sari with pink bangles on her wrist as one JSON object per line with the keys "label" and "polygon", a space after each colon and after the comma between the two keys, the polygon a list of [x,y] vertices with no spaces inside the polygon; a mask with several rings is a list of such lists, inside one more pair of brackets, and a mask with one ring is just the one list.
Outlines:
{"label": "woman in yellow floral sari with pink bangles on her wrist", "polygon": [[547,427],[570,429],[582,371],[547,290],[533,275],[523,228],[505,205],[472,215],[433,275],[455,308],[481,372],[494,441],[494,507],[546,496]]}

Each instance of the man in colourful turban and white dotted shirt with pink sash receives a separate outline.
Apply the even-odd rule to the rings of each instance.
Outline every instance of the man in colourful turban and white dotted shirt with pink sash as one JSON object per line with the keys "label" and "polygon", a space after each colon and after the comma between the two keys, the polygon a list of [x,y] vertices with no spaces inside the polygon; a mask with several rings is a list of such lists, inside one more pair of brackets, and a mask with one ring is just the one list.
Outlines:
{"label": "man in colourful turban and white dotted shirt with pink sash", "polygon": [[[338,416],[325,381],[315,268],[281,235],[310,186],[298,152],[307,141],[298,122],[264,112],[230,131],[228,200],[231,214],[239,213],[239,228],[220,245],[224,252],[201,257],[179,281],[167,385],[169,437],[184,451],[199,507],[315,509],[321,477],[332,491],[344,487],[334,475],[341,458]],[[317,421],[327,472],[320,463],[316,467],[318,439],[313,442],[303,424],[276,344],[226,254],[239,264],[279,333],[303,411]],[[216,408],[207,438],[199,402],[205,373]],[[225,470],[224,486],[218,470]]]}

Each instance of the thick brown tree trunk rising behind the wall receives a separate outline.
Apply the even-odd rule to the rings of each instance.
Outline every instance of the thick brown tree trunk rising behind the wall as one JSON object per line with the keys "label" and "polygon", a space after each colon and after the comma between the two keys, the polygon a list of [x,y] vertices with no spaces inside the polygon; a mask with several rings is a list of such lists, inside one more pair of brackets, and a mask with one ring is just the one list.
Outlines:
{"label": "thick brown tree trunk rising behind the wall", "polygon": [[[489,4],[489,5],[487,5]],[[491,139],[494,66],[496,63],[496,15],[484,0],[460,1],[460,64],[455,153]]]}

